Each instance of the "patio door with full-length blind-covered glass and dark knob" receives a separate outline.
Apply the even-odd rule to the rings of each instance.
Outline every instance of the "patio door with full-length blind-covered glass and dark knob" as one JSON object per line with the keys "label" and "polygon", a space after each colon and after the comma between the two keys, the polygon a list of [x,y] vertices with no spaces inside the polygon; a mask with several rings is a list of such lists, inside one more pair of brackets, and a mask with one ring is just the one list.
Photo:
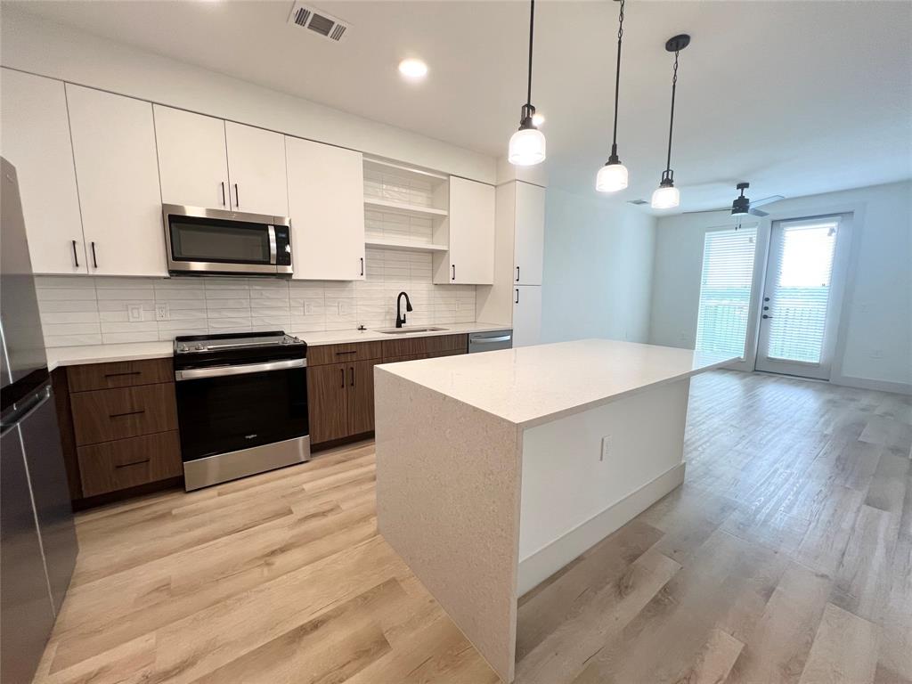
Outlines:
{"label": "patio door with full-length blind-covered glass and dark knob", "polygon": [[772,224],[757,370],[830,378],[851,218]]}

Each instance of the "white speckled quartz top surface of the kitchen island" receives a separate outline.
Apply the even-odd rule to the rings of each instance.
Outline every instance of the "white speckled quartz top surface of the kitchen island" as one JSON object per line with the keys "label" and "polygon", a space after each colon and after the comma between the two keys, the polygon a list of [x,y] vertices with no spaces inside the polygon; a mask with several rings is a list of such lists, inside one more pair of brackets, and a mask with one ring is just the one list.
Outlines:
{"label": "white speckled quartz top surface of the kitchen island", "polygon": [[733,360],[692,349],[584,339],[377,368],[531,427]]}

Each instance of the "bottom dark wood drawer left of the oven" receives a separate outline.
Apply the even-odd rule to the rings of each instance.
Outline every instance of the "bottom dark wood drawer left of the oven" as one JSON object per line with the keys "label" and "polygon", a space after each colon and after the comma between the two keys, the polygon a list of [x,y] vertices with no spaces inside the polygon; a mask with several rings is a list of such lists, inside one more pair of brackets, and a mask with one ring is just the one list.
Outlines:
{"label": "bottom dark wood drawer left of the oven", "polygon": [[82,495],[95,496],[183,474],[177,430],[79,447]]}

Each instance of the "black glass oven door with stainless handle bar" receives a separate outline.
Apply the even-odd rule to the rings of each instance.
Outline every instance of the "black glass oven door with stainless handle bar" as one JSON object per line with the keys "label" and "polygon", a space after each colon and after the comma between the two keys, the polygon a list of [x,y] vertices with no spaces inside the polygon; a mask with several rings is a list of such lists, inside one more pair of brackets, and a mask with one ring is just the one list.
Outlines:
{"label": "black glass oven door with stainless handle bar", "polygon": [[308,434],[303,358],[175,373],[183,461]]}

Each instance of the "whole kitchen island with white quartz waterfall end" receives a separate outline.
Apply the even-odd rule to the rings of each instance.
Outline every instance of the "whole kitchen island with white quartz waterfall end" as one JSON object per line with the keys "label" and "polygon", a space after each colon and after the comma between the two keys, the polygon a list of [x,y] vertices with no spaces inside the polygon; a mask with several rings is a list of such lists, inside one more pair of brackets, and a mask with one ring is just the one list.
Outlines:
{"label": "whole kitchen island with white quartz waterfall end", "polygon": [[689,378],[588,339],[375,369],[379,531],[506,682],[517,600],[684,479]]}

